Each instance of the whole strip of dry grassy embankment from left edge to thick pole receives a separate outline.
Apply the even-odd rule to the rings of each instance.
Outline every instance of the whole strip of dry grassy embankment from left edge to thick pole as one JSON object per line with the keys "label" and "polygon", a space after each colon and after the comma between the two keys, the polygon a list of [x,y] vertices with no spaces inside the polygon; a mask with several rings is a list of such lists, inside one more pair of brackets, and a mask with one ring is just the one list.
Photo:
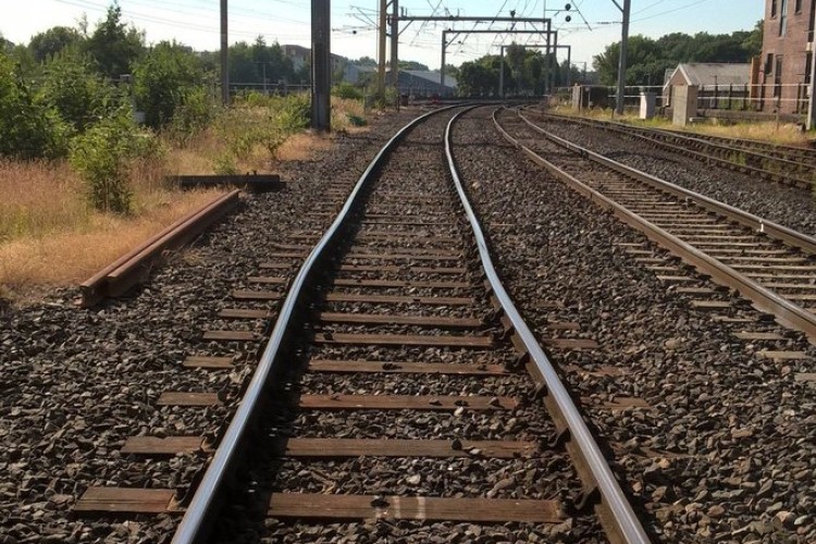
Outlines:
{"label": "whole strip of dry grassy embankment from left edge to thick pole", "polygon": [[[300,124],[281,120],[279,106],[223,111],[183,144],[178,135],[162,137],[161,158],[136,161],[128,171],[129,215],[95,211],[65,160],[0,160],[0,298],[25,304],[46,288],[76,285],[221,193],[181,191],[164,183],[166,175],[270,173],[277,161],[308,160],[331,147],[331,137],[282,129]],[[349,120],[362,118],[359,102],[334,100],[335,131],[356,129]]]}

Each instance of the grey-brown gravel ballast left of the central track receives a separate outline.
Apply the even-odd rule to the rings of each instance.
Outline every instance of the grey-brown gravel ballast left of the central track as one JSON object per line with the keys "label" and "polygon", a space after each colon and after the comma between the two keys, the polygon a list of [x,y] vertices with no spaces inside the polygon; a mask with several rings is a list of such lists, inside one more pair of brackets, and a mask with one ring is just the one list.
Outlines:
{"label": "grey-brown gravel ballast left of the central track", "polygon": [[[213,322],[230,307],[270,307],[231,299],[236,288],[261,289],[249,275],[290,276],[295,268],[261,271],[274,244],[294,232],[319,234],[327,217],[310,215],[329,187],[354,184],[371,157],[416,111],[384,118],[367,132],[335,136],[331,153],[284,163],[286,188],[252,195],[240,210],[171,257],[134,295],[79,309],[78,289],[42,304],[0,312],[0,541],[166,542],[177,516],[77,517],[88,486],[187,487],[203,467],[196,453],[146,459],[121,455],[128,436],[201,434],[223,429],[251,374],[259,342],[207,343],[211,329],[263,322]],[[232,370],[182,367],[189,355],[235,358]],[[159,407],[164,391],[217,392],[222,406]]]}

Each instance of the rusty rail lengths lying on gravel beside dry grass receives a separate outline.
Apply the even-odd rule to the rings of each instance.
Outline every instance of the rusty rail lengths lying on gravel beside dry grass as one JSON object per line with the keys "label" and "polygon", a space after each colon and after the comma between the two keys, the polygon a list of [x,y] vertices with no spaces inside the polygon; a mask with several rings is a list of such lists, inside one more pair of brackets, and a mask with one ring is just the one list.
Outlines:
{"label": "rusty rail lengths lying on gravel beside dry grass", "polygon": [[82,306],[87,308],[99,304],[104,298],[122,296],[138,283],[144,282],[164,251],[187,244],[234,210],[238,206],[239,194],[238,189],[234,189],[218,197],[84,281],[79,285]]}

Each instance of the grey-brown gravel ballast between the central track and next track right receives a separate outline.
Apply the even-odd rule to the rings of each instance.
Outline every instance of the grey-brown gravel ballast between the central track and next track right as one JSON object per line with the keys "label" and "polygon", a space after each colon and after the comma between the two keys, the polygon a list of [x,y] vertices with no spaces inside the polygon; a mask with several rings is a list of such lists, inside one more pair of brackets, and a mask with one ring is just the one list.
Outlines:
{"label": "grey-brown gravel ballast between the central track and next track right", "polygon": [[[627,244],[664,251],[499,140],[489,110],[470,114],[456,138],[462,177],[517,305],[541,337],[559,335],[549,323],[573,321],[599,344],[551,351],[585,399],[655,539],[816,539],[808,440],[816,403],[813,388],[795,379],[814,368],[805,338],[772,321],[727,324],[693,309]],[[732,302],[734,316],[762,318]],[[737,339],[745,327],[784,339]],[[811,357],[774,361],[759,356],[763,348]],[[647,408],[604,408],[616,397],[640,398]]]}

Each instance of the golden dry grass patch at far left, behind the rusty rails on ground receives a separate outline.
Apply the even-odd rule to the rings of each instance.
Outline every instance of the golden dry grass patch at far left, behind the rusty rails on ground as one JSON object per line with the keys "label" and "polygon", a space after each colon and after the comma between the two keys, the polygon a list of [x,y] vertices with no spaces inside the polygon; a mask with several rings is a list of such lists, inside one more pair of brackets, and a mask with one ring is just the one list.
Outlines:
{"label": "golden dry grass patch at far left, behind the rusty rails on ground", "polygon": [[132,217],[95,212],[65,162],[0,162],[0,297],[74,285],[219,191],[180,193],[156,162],[133,164]]}

